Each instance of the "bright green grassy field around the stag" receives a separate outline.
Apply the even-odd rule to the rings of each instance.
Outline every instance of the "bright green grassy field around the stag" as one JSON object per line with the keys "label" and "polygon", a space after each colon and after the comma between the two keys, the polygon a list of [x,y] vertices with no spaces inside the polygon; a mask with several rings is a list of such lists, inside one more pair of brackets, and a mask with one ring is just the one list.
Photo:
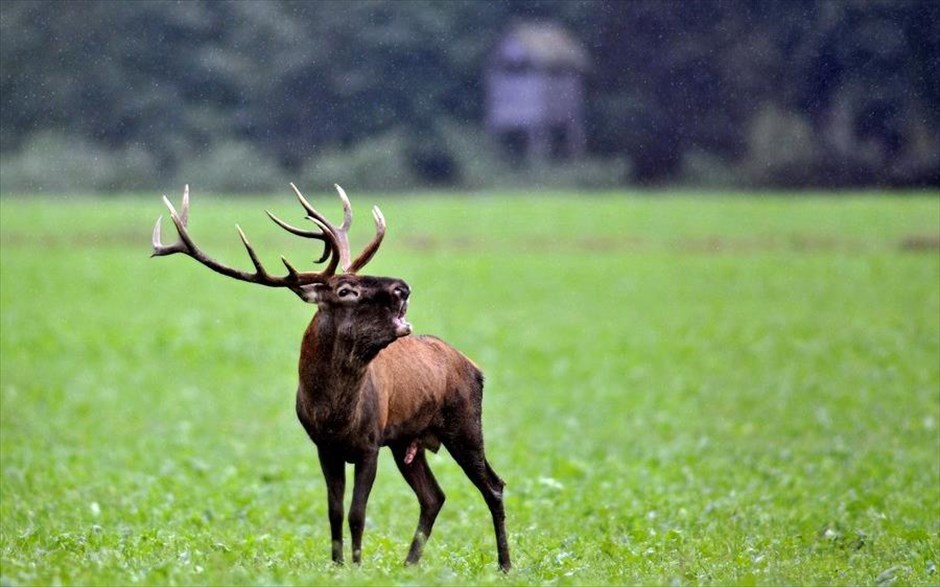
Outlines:
{"label": "bright green grassy field around the stag", "polygon": [[[940,582],[940,198],[351,196],[354,246],[389,222],[369,272],[487,373],[512,573],[446,451],[422,564],[386,452],[333,566],[294,416],[313,307],[149,259],[157,195],[43,196],[0,199],[3,585]],[[264,208],[300,221],[194,186],[191,232],[304,264]]]}

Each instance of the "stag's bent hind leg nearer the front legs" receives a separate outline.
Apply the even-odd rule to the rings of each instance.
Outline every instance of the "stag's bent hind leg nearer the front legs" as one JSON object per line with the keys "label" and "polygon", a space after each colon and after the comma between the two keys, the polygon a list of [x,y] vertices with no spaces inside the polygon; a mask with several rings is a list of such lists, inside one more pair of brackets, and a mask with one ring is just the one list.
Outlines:
{"label": "stag's bent hind leg nearer the front legs", "polygon": [[[418,528],[415,530],[414,539],[411,541],[411,548],[408,549],[408,557],[405,564],[411,565],[421,559],[421,553],[424,550],[424,543],[431,536],[431,529],[434,527],[434,520],[437,514],[444,507],[444,492],[441,491],[428,461],[425,458],[424,447],[408,444],[396,444],[392,446],[392,454],[395,456],[395,464],[398,470],[415,496],[418,498],[418,505],[421,513],[418,516]],[[410,457],[410,458],[409,458]]]}

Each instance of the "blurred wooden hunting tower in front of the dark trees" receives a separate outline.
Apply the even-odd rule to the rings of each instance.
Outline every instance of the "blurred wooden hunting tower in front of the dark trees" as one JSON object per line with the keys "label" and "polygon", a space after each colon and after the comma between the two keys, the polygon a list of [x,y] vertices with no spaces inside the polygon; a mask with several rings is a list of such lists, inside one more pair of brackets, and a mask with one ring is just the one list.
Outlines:
{"label": "blurred wooden hunting tower in front of the dark trees", "polygon": [[587,52],[560,25],[516,23],[487,64],[487,132],[517,161],[579,157],[587,70]]}

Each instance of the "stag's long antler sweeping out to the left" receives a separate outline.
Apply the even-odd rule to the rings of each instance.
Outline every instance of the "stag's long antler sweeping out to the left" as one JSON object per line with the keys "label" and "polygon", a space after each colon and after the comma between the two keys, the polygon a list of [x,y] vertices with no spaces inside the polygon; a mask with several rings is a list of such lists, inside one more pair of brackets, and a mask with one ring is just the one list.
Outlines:
{"label": "stag's long antler sweeping out to the left", "polygon": [[[166,207],[170,210],[170,218],[173,220],[173,224],[176,225],[176,232],[179,233],[179,239],[171,244],[164,245],[160,242],[160,224],[163,221],[163,217],[157,219],[157,224],[153,227],[153,254],[152,257],[161,257],[164,255],[172,255],[174,253],[183,253],[184,255],[189,255],[193,259],[199,261],[209,269],[222,275],[238,279],[240,281],[247,281],[249,283],[257,283],[259,285],[265,285],[268,287],[287,287],[291,288],[295,293],[301,296],[303,299],[307,299],[301,286],[310,285],[313,283],[323,283],[331,275],[336,273],[336,265],[339,261],[339,249],[337,248],[337,242],[333,238],[332,233],[327,230],[318,237],[321,238],[326,243],[328,253],[332,252],[332,258],[330,259],[330,264],[327,265],[326,269],[322,272],[317,271],[308,271],[308,272],[298,272],[294,269],[290,263],[287,262],[287,259],[281,257],[281,261],[284,263],[284,266],[287,267],[287,275],[284,276],[274,276],[268,273],[264,266],[261,264],[261,261],[258,259],[258,255],[255,253],[254,248],[251,246],[251,243],[248,242],[248,238],[245,237],[245,233],[242,231],[241,227],[236,225],[238,229],[238,235],[242,239],[242,243],[245,245],[245,249],[248,251],[248,256],[251,258],[252,264],[255,266],[254,273],[248,273],[247,271],[241,271],[239,269],[234,269],[228,265],[223,265],[215,259],[206,255],[202,250],[199,249],[193,243],[192,238],[189,236],[189,232],[186,230],[186,225],[189,221],[189,185],[183,190],[183,202],[180,207],[180,213],[176,212],[176,208],[173,207],[173,204],[170,203],[170,200],[163,196],[163,203],[166,204]],[[314,219],[314,222],[319,222]],[[280,223],[279,223],[280,224]],[[325,229],[326,227],[324,227]],[[325,257],[324,257],[325,260]]]}

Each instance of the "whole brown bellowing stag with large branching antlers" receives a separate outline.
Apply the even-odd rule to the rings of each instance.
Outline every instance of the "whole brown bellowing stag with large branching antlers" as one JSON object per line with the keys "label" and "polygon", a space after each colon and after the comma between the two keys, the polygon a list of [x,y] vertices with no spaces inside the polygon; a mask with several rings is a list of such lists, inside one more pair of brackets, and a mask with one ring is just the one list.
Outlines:
{"label": "whole brown bellowing stag with large branching antlers", "polygon": [[348,233],[352,207],[343,189],[335,186],[343,206],[343,222],[336,226],[314,209],[297,186],[290,186],[306,212],[305,218],[316,228],[298,228],[265,212],[287,232],[322,243],[323,253],[315,262],[326,263],[322,271],[298,271],[282,256],[286,273],[272,275],[238,225],[254,271],[209,257],[188,232],[189,185],[183,190],[179,212],[163,196],[178,239],[162,244],[163,217],[159,217],[153,229],[151,257],[187,255],[226,277],[285,288],[316,305],[300,345],[295,409],[316,446],[326,482],[334,563],[342,565],[344,561],[346,464],[352,464],[354,470],[348,516],[352,560],[360,565],[366,504],[383,446],[391,449],[398,470],[418,499],[418,526],[405,564],[418,563],[445,499],[428,466],[426,451],[437,453],[443,444],[482,494],[493,520],[498,565],[508,572],[512,563],[503,507],[505,483],[483,449],[483,372],[443,340],[412,334],[405,319],[411,295],[407,282],[359,274],[385,236],[385,218],[377,206],[372,209],[375,236],[351,259]]}

